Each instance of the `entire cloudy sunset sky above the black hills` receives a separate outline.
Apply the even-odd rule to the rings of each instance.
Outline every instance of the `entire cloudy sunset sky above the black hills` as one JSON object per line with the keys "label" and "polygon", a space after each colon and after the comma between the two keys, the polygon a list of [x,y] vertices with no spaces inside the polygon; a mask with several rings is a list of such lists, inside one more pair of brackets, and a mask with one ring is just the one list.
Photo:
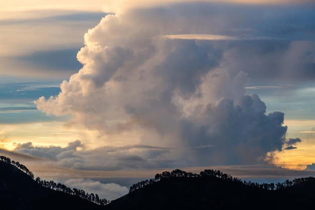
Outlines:
{"label": "entire cloudy sunset sky above the black hills", "polygon": [[180,168],[315,176],[313,1],[0,3],[0,154],[115,199]]}

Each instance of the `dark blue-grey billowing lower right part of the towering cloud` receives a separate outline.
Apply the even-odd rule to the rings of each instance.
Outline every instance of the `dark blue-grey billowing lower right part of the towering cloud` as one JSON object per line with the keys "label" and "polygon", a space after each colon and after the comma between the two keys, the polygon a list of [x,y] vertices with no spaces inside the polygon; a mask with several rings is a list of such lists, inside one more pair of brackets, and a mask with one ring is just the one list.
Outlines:
{"label": "dark blue-grey billowing lower right part of the towering cloud", "polygon": [[211,144],[195,149],[194,155],[203,164],[214,157],[220,157],[216,163],[221,165],[255,163],[267,152],[281,151],[285,144],[284,114],[266,115],[266,106],[257,95],[242,96],[235,102],[221,99],[200,112],[201,120],[183,121],[182,138],[192,147]]}

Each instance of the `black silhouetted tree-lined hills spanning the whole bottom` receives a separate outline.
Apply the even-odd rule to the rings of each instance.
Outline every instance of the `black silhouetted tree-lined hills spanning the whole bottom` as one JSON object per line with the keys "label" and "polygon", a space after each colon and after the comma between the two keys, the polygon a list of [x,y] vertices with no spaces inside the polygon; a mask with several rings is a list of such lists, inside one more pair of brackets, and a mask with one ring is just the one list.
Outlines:
{"label": "black silhouetted tree-lined hills spanning the whole bottom", "polygon": [[[0,161],[0,209],[312,209],[315,178],[276,184],[245,182],[220,171],[200,174],[179,169],[135,183],[130,192],[108,205],[98,205],[52,190],[33,179],[20,163]],[[6,162],[7,161],[7,162]],[[12,165],[15,164],[15,165]],[[19,168],[17,168],[18,166]],[[46,182],[49,183],[49,182]],[[79,190],[80,191],[80,190]],[[73,191],[72,191],[73,193]],[[85,194],[85,193],[83,193]]]}

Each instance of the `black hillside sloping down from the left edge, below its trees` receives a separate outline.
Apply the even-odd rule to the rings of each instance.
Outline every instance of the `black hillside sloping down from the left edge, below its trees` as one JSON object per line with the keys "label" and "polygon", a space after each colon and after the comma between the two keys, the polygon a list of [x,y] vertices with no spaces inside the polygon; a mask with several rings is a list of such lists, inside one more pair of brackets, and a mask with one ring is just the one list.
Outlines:
{"label": "black hillside sloping down from the left edge, below its trees", "polygon": [[104,209],[104,206],[43,187],[17,167],[0,161],[0,209]]}

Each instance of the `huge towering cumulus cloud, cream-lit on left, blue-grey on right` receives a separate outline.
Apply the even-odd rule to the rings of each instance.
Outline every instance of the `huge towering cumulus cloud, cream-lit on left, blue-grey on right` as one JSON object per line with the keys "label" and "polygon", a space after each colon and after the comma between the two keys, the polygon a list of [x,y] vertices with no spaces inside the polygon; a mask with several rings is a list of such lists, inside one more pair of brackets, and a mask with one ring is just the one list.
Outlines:
{"label": "huge towering cumulus cloud, cream-lit on left, blue-grey on right", "polygon": [[[160,157],[183,165],[258,163],[300,140],[286,139],[282,112],[268,114],[258,95],[246,95],[249,76],[280,76],[290,66],[277,60],[284,60],[282,52],[291,58],[305,50],[292,48],[300,28],[285,30],[294,14],[274,17],[279,31],[268,15],[273,10],[265,9],[198,3],[107,15],[85,35],[77,54],[83,68],[60,85],[58,96],[39,98],[37,108],[71,114],[73,123],[100,136],[137,133],[132,143],[172,148]],[[174,34],[234,38],[167,38]],[[302,65],[300,58],[292,62]],[[290,69],[285,77],[298,74]]]}

